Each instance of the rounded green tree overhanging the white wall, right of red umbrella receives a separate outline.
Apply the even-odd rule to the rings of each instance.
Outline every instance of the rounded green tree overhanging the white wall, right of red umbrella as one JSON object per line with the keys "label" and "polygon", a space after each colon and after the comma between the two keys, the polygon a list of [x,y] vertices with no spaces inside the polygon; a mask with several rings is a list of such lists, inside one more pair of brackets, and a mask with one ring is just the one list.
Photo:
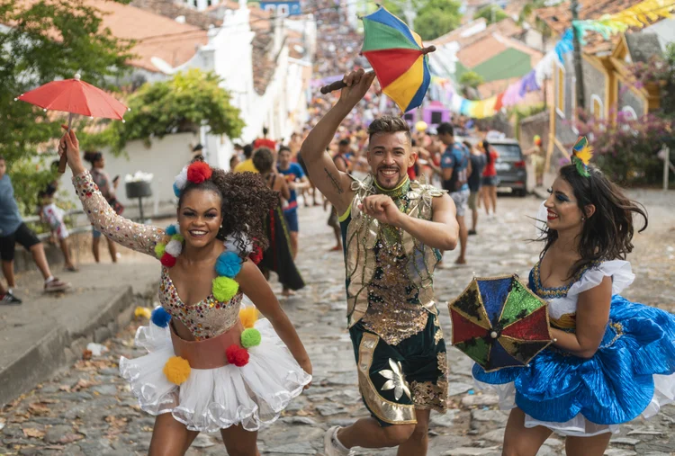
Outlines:
{"label": "rounded green tree overhanging the white wall, right of red umbrella", "polygon": [[142,85],[128,99],[131,111],[126,122],[112,122],[101,135],[87,137],[86,143],[109,144],[120,153],[128,141],[142,139],[149,145],[152,138],[196,133],[202,125],[208,125],[212,134],[238,138],[244,121],[219,84],[214,73],[193,68],[168,81]]}

